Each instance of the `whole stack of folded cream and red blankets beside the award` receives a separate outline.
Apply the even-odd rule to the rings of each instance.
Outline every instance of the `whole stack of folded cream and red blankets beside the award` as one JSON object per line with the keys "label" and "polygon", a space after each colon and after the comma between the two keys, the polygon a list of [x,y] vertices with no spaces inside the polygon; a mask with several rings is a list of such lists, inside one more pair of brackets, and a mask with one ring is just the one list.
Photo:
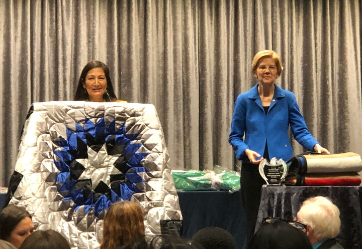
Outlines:
{"label": "whole stack of folded cream and red blankets beside the award", "polygon": [[317,154],[308,152],[287,162],[286,185],[297,186],[358,186],[362,160],[353,152]]}

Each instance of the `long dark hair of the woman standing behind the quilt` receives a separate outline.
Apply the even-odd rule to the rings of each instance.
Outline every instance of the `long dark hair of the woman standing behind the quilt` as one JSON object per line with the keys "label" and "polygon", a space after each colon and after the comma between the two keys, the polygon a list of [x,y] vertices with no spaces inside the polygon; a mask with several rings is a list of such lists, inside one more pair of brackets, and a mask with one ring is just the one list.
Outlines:
{"label": "long dark hair of the woman standing behind the quilt", "polygon": [[[101,61],[91,61],[91,62],[88,62],[87,65],[84,66],[84,68],[80,74],[80,77],[79,77],[79,82],[78,82],[78,86],[77,86],[77,89],[75,92],[74,100],[87,100],[88,99],[88,93],[83,88],[83,84],[85,82],[85,76],[87,75],[89,70],[92,70],[94,68],[102,68],[106,75],[107,91],[103,95],[103,99],[107,102],[109,102],[110,100],[112,100],[112,101],[117,100],[117,96],[113,90],[113,85],[112,85],[111,77],[109,74],[109,68],[107,67],[106,64],[104,64]],[[107,93],[109,96],[107,96]]]}

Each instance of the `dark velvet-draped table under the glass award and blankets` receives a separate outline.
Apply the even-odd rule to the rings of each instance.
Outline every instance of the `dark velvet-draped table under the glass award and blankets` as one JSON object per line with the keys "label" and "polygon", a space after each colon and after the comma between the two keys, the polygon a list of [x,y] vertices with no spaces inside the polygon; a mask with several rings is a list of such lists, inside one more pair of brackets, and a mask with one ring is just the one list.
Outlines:
{"label": "dark velvet-draped table under the glass award and blankets", "polygon": [[327,196],[340,211],[338,242],[345,249],[362,248],[362,187],[358,186],[266,186],[261,188],[260,207],[255,230],[262,218],[293,219],[302,202],[313,196]]}

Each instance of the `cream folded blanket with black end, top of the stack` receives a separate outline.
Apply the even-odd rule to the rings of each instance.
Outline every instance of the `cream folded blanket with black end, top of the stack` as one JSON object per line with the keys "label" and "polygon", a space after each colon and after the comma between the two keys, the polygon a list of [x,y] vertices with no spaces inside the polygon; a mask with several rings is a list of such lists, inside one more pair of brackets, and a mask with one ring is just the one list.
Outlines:
{"label": "cream folded blanket with black end, top of the stack", "polygon": [[353,152],[338,154],[308,154],[297,155],[288,162],[289,173],[336,173],[359,172],[362,170],[362,160],[359,154]]}

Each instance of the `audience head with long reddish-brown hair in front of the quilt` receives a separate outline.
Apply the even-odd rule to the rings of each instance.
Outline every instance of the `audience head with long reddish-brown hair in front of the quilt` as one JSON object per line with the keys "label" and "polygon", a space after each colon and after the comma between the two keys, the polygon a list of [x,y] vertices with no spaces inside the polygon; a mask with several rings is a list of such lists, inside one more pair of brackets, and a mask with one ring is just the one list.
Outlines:
{"label": "audience head with long reddish-brown hair in front of the quilt", "polygon": [[135,202],[119,201],[107,211],[103,224],[101,249],[114,249],[141,239],[145,235],[143,212]]}

